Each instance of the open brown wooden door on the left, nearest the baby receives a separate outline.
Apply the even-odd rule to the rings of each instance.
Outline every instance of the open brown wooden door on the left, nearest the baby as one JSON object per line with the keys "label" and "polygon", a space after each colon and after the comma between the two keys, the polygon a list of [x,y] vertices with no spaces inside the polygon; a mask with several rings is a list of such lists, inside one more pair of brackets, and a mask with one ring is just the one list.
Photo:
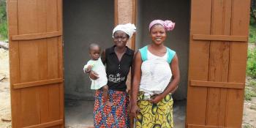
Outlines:
{"label": "open brown wooden door on the left, nearest the baby", "polygon": [[64,127],[62,1],[7,0],[13,128]]}

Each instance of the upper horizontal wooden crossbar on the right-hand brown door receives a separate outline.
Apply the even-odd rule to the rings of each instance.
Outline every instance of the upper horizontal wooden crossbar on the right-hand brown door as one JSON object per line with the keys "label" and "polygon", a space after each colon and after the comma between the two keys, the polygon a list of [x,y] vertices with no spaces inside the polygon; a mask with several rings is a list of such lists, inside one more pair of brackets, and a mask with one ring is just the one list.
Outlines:
{"label": "upper horizontal wooden crossbar on the right-hand brown door", "polygon": [[247,42],[247,36],[230,36],[230,35],[215,35],[215,34],[193,34],[194,40],[219,40],[219,41],[233,41],[233,42]]}

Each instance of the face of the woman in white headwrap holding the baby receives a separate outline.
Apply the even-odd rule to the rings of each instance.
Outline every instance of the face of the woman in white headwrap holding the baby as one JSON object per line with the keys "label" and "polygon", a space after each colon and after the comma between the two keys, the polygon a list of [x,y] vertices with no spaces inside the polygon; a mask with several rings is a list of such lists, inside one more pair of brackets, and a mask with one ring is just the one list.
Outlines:
{"label": "face of the woman in white headwrap holding the baby", "polygon": [[114,43],[118,48],[124,48],[127,45],[128,35],[124,31],[114,33]]}

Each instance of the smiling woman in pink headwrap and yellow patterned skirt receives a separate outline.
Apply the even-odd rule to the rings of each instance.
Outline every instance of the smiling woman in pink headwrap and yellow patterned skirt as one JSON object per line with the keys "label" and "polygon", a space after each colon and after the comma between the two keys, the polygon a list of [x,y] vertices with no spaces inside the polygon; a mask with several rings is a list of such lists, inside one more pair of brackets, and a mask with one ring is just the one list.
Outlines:
{"label": "smiling woman in pink headwrap and yellow patterned skirt", "polygon": [[180,73],[176,52],[164,45],[170,20],[149,24],[152,42],[135,53],[131,114],[136,127],[173,127],[173,99]]}

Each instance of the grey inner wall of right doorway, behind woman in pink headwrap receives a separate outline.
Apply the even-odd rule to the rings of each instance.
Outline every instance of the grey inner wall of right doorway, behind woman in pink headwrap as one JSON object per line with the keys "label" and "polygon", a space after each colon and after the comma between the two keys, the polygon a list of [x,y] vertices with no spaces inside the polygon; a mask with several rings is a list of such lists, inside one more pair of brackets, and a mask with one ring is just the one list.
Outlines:
{"label": "grey inner wall of right doorway, behind woman in pink headwrap", "polygon": [[165,45],[176,51],[181,71],[181,82],[173,94],[174,99],[187,99],[187,77],[189,57],[190,3],[187,0],[140,0],[137,8],[136,48],[151,43],[148,24],[155,19],[172,20],[176,23],[173,31],[167,32]]}

